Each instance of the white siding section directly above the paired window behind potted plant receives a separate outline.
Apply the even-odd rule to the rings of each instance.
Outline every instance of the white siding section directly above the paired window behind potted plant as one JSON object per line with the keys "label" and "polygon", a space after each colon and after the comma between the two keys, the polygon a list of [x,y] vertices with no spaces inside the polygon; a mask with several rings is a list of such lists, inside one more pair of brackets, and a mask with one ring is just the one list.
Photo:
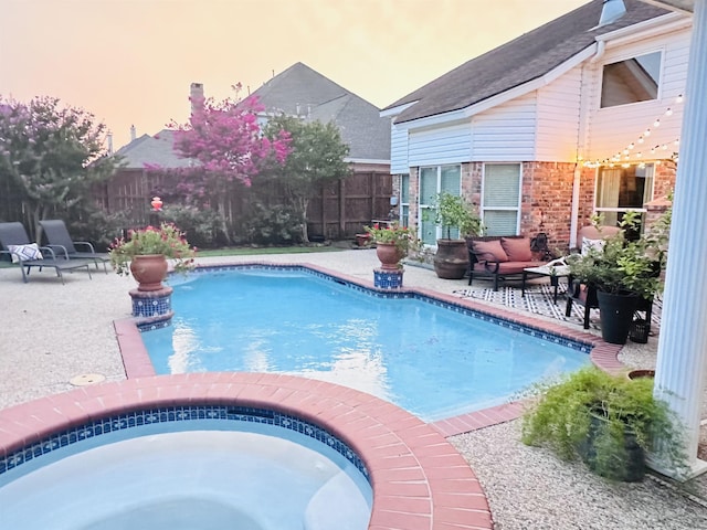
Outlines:
{"label": "white siding section directly above the paired window behind potted plant", "polygon": [[466,162],[471,157],[469,146],[468,123],[412,130],[409,136],[409,163],[418,167]]}

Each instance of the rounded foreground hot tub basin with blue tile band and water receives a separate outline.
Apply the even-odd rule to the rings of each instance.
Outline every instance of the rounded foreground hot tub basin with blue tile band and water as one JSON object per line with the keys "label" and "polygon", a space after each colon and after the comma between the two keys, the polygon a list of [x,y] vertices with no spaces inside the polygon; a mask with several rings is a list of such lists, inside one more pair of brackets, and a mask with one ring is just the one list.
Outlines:
{"label": "rounded foreground hot tub basin with blue tile band and water", "polygon": [[44,438],[0,470],[2,527],[24,530],[363,530],[372,506],[368,470],[340,439],[234,405],[106,417]]}

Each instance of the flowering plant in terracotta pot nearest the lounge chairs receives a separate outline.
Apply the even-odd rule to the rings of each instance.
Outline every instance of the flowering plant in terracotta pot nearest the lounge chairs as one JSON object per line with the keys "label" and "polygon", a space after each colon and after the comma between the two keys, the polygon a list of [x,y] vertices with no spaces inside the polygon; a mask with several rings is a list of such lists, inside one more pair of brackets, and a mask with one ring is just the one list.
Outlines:
{"label": "flowering plant in terracotta pot nearest the lounge chairs", "polygon": [[109,255],[115,272],[120,276],[131,273],[138,290],[158,290],[167,275],[167,258],[173,259],[173,271],[184,273],[193,268],[196,251],[175,224],[162,223],[128,231],[127,237],[110,244]]}

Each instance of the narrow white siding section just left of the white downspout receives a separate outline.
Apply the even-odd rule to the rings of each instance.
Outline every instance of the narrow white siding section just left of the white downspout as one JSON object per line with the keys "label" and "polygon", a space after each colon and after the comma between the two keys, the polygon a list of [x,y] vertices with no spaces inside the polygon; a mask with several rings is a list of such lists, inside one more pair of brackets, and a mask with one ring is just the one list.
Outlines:
{"label": "narrow white siding section just left of the white downspout", "polygon": [[530,160],[577,160],[581,86],[582,67],[577,66],[538,91],[536,156]]}

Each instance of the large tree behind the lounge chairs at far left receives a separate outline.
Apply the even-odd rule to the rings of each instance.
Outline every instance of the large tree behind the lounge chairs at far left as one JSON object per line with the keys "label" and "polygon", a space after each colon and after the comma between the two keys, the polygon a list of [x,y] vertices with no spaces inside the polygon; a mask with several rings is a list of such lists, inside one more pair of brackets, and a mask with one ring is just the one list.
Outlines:
{"label": "large tree behind the lounge chairs at far left", "polygon": [[86,204],[91,186],[109,178],[105,125],[93,114],[38,96],[29,103],[0,96],[0,186],[19,198],[39,241],[39,221]]}

